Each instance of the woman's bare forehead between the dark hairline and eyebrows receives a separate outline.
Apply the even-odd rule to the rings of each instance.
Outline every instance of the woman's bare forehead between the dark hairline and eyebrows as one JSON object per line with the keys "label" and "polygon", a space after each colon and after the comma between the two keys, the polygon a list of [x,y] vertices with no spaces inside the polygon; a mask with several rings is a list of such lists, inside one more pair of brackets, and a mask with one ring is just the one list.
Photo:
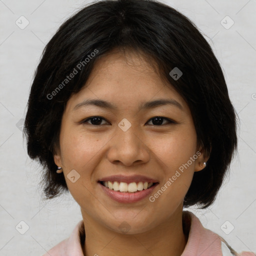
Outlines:
{"label": "woman's bare forehead between the dark hairline and eyebrows", "polygon": [[134,51],[113,50],[95,62],[84,88],[69,99],[67,107],[87,98],[132,107],[163,97],[174,98],[186,107],[182,97],[159,74],[153,59],[150,62]]}

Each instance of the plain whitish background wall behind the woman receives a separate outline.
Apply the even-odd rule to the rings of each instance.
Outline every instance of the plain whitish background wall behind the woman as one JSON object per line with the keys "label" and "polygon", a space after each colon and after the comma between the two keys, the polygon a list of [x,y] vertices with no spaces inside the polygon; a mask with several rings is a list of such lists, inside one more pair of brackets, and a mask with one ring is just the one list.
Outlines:
{"label": "plain whitish background wall behind the woman", "polygon": [[[67,17],[89,2],[0,0],[0,255],[42,255],[82,219],[69,193],[41,200],[40,166],[27,156],[16,123],[22,124],[25,117],[33,72],[45,44]],[[238,252],[256,251],[256,1],[165,3],[188,16],[210,42],[240,119],[238,154],[217,200],[205,210],[190,210]],[[24,29],[15,24],[21,15],[29,21]],[[229,29],[220,23],[226,15],[234,21]],[[29,226],[24,234],[15,229],[21,220]],[[226,220],[234,226],[229,234],[220,228]]]}

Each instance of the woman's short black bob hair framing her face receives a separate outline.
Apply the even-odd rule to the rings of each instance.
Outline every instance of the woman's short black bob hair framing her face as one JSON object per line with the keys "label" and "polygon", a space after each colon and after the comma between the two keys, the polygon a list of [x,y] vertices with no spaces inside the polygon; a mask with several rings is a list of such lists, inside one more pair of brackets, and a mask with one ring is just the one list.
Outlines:
{"label": "woman's short black bob hair framing her face", "polygon": [[[194,172],[183,207],[206,208],[237,149],[236,114],[208,42],[187,17],[154,0],[94,2],[68,18],[45,46],[31,85],[24,133],[29,157],[43,166],[40,184],[46,199],[68,191],[53,160],[66,103],[85,86],[96,60],[116,48],[153,60],[161,78],[187,102],[197,143],[209,159]],[[179,79],[169,74],[174,67],[182,72]]]}

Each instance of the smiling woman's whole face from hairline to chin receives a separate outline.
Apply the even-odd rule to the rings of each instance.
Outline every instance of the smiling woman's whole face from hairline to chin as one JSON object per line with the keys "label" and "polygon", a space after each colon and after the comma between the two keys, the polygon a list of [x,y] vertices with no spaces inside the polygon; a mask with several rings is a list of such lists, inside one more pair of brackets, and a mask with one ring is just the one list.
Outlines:
{"label": "smiling woman's whole face from hairline to chin", "polygon": [[99,59],[68,100],[54,161],[83,219],[116,232],[126,221],[130,233],[139,233],[182,211],[205,159],[186,102],[142,57],[125,54]]}

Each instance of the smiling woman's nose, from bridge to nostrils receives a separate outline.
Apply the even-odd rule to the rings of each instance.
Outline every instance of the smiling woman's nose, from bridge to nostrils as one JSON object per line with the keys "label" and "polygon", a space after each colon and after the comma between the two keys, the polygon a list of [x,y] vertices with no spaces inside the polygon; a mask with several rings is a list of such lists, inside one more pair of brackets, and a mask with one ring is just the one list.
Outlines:
{"label": "smiling woman's nose, from bridge to nostrils", "polygon": [[150,159],[149,148],[138,131],[132,127],[123,131],[117,127],[116,134],[109,141],[107,158],[113,164],[125,166],[146,163]]}

